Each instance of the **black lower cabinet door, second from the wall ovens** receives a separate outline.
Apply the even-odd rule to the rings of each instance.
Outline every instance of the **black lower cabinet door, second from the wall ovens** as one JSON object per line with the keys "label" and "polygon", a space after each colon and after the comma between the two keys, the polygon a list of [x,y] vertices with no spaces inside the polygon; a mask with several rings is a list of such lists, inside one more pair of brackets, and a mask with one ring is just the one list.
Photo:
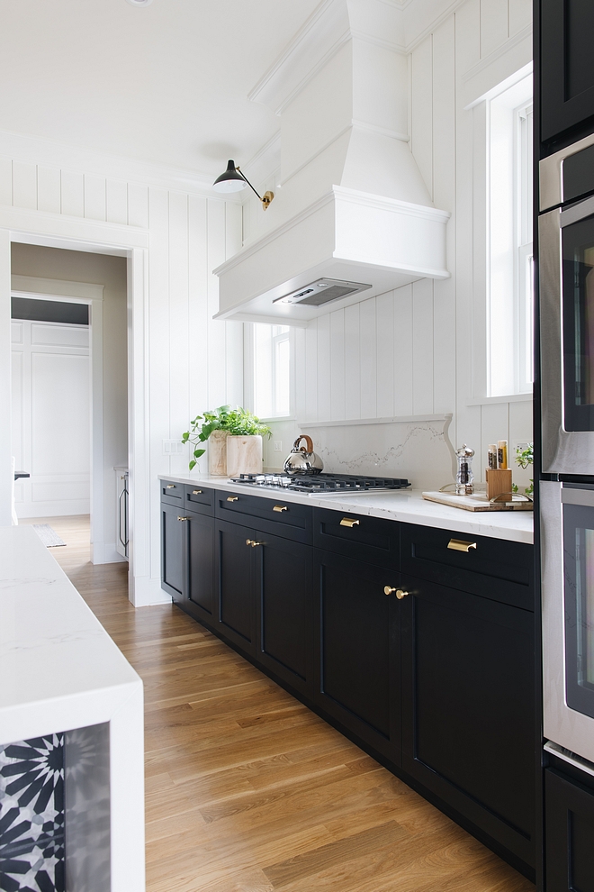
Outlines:
{"label": "black lower cabinet door, second from the wall ovens", "polygon": [[400,765],[400,574],[315,552],[316,703]]}

